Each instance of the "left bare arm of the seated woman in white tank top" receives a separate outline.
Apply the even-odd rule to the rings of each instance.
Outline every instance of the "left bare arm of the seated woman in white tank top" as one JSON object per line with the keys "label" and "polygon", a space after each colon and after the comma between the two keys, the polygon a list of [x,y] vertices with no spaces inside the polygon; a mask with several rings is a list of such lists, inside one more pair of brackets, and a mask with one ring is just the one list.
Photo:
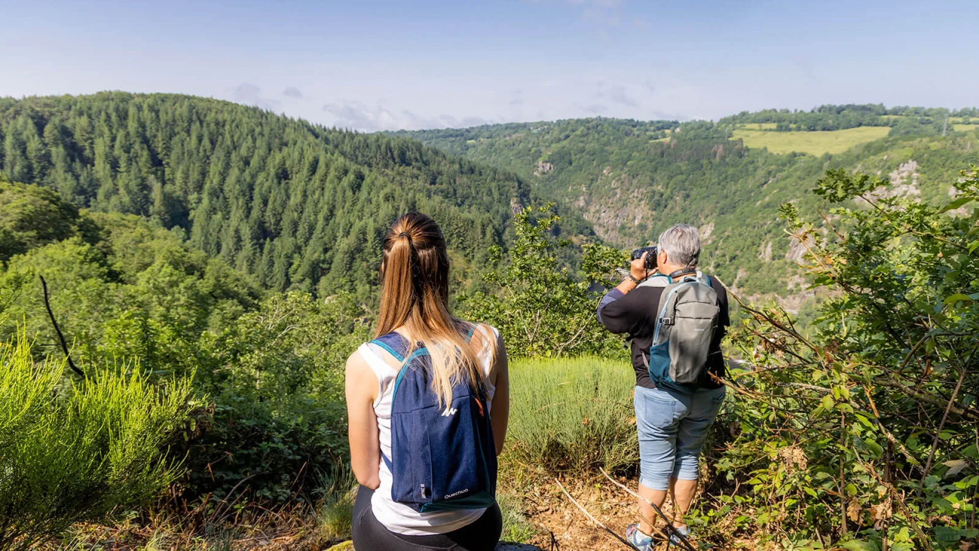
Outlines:
{"label": "left bare arm of the seated woman in white tank top", "polygon": [[350,467],[360,484],[376,490],[381,485],[381,441],[374,400],[377,377],[356,352],[347,359],[347,421],[350,434]]}

